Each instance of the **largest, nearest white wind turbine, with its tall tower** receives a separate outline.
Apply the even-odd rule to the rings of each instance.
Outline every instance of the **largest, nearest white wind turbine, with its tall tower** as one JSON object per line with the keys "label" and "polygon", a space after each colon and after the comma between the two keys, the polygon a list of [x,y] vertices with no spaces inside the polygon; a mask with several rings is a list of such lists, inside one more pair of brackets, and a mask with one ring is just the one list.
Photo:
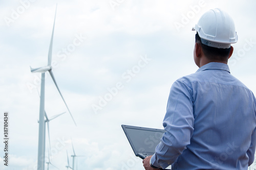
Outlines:
{"label": "largest, nearest white wind turbine, with its tall tower", "polygon": [[[52,80],[57,87],[59,94],[65,103],[74,123],[75,120],[57,86],[57,83],[55,81],[55,78],[53,76],[52,72],[52,44],[53,44],[53,34],[54,34],[54,26],[55,26],[55,18],[56,18],[56,11],[57,11],[57,5],[55,10],[55,16],[54,16],[54,22],[53,22],[53,30],[52,30],[52,36],[50,41],[50,47],[48,52],[48,65],[39,67],[39,68],[31,68],[31,72],[41,72],[41,90],[40,90],[40,109],[39,109],[39,133],[38,133],[38,155],[37,155],[37,169],[38,170],[44,170],[45,169],[45,72],[49,71]],[[75,123],[76,125],[76,123]]]}

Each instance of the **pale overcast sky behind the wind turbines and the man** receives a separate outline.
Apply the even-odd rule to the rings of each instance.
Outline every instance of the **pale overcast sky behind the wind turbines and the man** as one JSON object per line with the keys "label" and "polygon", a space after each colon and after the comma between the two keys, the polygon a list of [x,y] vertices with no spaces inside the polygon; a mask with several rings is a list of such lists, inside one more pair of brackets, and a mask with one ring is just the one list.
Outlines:
{"label": "pale overcast sky behind the wind turbines and the man", "polygon": [[143,169],[121,125],[162,128],[170,86],[198,69],[191,28],[209,9],[232,16],[239,40],[230,71],[256,93],[253,0],[0,3],[0,126],[8,111],[10,136],[8,167],[0,144],[1,169],[36,169],[40,74],[30,66],[47,65],[56,4],[53,73],[77,124],[47,73],[46,113],[66,112],[50,122],[51,162],[59,169],[66,169],[67,151],[72,164],[71,139],[76,154],[84,155],[78,169]]}

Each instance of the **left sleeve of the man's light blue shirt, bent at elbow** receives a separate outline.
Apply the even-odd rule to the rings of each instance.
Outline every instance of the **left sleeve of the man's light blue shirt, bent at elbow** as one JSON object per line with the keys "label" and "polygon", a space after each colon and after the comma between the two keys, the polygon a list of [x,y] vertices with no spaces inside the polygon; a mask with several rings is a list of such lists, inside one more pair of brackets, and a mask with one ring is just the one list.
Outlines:
{"label": "left sleeve of the man's light blue shirt, bent at elbow", "polygon": [[182,80],[170,88],[163,127],[166,132],[151,158],[151,163],[160,168],[175,162],[194,131],[193,90]]}

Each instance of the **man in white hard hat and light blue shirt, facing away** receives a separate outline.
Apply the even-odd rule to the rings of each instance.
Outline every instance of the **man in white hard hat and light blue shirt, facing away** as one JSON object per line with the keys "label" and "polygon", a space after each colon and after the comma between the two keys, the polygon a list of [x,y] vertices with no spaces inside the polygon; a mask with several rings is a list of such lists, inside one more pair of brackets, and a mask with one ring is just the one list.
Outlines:
{"label": "man in white hard hat and light blue shirt, facing away", "polygon": [[166,130],[146,170],[248,169],[256,145],[256,100],[230,75],[227,65],[238,40],[232,18],[220,9],[206,12],[197,31],[195,74],[170,89],[163,127]]}

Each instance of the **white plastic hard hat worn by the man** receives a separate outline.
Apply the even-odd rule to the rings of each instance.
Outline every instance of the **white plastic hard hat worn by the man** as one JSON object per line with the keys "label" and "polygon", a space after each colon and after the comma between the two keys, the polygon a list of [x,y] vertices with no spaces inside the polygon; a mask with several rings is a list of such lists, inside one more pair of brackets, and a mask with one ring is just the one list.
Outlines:
{"label": "white plastic hard hat worn by the man", "polygon": [[220,9],[205,12],[192,30],[198,32],[203,44],[216,48],[229,48],[238,41],[233,19]]}

